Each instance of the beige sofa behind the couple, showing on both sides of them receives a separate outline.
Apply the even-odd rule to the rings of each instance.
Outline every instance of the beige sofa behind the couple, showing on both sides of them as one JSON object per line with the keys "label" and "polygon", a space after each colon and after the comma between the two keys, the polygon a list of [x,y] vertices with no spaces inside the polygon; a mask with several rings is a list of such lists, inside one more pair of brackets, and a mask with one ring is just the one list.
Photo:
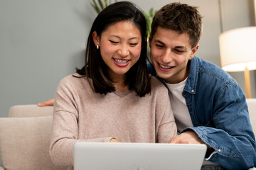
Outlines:
{"label": "beige sofa behind the couple, showing on both sides of them", "polygon": [[[256,134],[256,98],[247,99],[250,120]],[[13,106],[9,118],[0,118],[0,170],[61,170],[50,160],[50,129],[53,107]]]}

